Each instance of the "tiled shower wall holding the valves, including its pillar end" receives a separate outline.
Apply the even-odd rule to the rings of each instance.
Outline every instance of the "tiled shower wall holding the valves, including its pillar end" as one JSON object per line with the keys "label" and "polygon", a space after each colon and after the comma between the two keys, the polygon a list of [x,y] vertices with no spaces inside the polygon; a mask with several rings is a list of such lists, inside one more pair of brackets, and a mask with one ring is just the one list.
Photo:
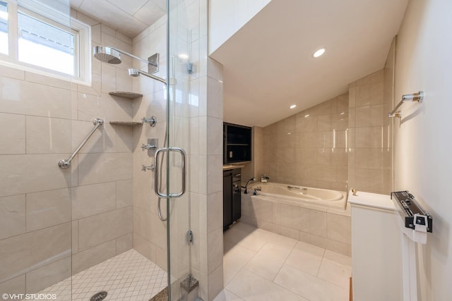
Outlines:
{"label": "tiled shower wall holding the valves, including its pillar end", "polygon": [[[177,82],[174,87],[178,101],[172,106],[176,118],[170,121],[172,144],[187,153],[187,192],[174,199],[172,206],[172,276],[177,278],[189,271],[186,231],[191,228],[191,273],[198,278],[199,295],[213,300],[222,290],[222,66],[207,56],[207,0],[180,1],[180,24],[177,54],[186,54],[186,39],[191,35],[191,63],[194,72],[186,73],[184,62],[177,62]],[[184,15],[186,13],[186,15]],[[186,19],[185,19],[186,18]],[[182,28],[184,24],[188,28]],[[166,18],[141,32],[133,39],[133,53],[147,57],[160,52],[158,76],[166,77]],[[174,37],[173,37],[174,38]],[[185,42],[184,42],[185,41]],[[174,40],[172,40],[174,42]],[[151,53],[149,53],[151,51]],[[174,49],[172,49],[174,51]],[[135,66],[143,67],[143,66]],[[167,269],[166,226],[157,216],[157,197],[153,193],[153,173],[143,173],[141,165],[153,159],[141,151],[148,138],[159,138],[162,147],[166,126],[165,90],[149,78],[133,80],[133,90],[143,93],[133,103],[133,120],[157,116],[155,128],[133,129],[133,247]],[[162,212],[166,215],[166,200]],[[189,214],[188,214],[189,213]],[[177,221],[177,223],[174,223]],[[177,284],[173,286],[177,289]]]}

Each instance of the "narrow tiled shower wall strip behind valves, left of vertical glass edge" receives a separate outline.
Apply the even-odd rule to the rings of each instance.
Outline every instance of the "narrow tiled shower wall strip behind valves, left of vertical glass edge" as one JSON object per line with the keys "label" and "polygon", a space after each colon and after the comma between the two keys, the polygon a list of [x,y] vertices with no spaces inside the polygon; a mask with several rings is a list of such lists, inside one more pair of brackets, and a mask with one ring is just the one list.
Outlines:
{"label": "narrow tiled shower wall strip behind valves, left of vertical glass edge", "polygon": [[[166,16],[133,38],[133,54],[147,58],[160,54],[159,72],[155,75],[166,78]],[[143,68],[133,62],[134,68]],[[147,71],[147,68],[143,68]],[[133,121],[155,116],[155,127],[145,125],[133,128],[133,248],[167,271],[166,222],[157,215],[157,197],[154,190],[154,173],[141,171],[144,164],[153,164],[148,152],[143,152],[141,145],[147,144],[148,138],[157,138],[158,147],[163,147],[166,128],[165,84],[145,76],[133,79],[133,92],[143,94],[134,99]],[[162,199],[162,213],[166,216],[166,200]]]}

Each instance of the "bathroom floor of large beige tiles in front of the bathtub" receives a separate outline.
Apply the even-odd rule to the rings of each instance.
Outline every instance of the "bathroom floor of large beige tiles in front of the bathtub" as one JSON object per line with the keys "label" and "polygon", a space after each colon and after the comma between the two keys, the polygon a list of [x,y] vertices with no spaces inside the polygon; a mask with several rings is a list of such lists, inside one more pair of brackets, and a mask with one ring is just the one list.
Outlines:
{"label": "bathroom floor of large beige tiles in front of the bathtub", "polygon": [[225,289],[214,301],[349,300],[352,259],[237,223],[224,233]]}

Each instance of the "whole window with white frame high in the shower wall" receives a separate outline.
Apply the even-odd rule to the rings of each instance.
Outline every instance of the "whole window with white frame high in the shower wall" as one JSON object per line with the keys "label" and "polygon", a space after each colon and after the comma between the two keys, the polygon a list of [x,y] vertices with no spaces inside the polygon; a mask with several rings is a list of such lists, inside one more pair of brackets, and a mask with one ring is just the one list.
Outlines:
{"label": "whole window with white frame high in the shower wall", "polygon": [[0,0],[0,63],[90,85],[90,27],[38,1],[19,3]]}

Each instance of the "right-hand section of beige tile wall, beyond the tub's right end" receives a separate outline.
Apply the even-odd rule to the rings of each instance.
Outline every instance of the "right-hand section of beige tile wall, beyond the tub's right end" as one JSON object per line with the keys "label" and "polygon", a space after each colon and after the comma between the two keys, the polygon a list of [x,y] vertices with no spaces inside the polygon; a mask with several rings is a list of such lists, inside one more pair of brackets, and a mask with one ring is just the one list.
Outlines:
{"label": "right-hand section of beige tile wall, beyond the tub's right end", "polygon": [[385,82],[385,73],[382,69],[350,84],[348,180],[349,188],[388,194],[392,125],[386,115],[392,80]]}

